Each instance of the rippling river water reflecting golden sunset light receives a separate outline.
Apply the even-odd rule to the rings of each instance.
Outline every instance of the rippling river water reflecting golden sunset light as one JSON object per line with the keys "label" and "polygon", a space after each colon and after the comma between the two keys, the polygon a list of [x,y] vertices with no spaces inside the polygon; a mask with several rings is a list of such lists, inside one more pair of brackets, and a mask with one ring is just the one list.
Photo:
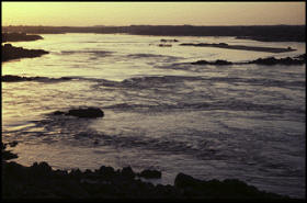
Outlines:
{"label": "rippling river water reflecting golden sunset light", "polygon": [[[45,34],[12,43],[50,54],[2,64],[2,75],[49,80],[2,82],[2,139],[18,140],[15,161],[55,169],[158,169],[198,179],[237,178],[260,190],[305,196],[304,66],[196,66],[200,59],[246,61],[297,56],[305,43],[234,37]],[[270,54],[180,43],[293,47]],[[70,77],[70,80],[61,80]],[[55,78],[54,80],[52,78]],[[103,119],[56,116],[98,106]]]}

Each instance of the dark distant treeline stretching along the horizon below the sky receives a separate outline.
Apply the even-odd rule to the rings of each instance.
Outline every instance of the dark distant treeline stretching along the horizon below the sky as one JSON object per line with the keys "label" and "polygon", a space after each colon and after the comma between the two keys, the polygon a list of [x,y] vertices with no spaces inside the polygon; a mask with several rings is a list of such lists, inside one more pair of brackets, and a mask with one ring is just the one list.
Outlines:
{"label": "dark distant treeline stretching along the horizon below the sky", "polygon": [[2,32],[33,34],[60,33],[127,33],[163,36],[236,36],[270,42],[305,42],[305,25],[193,26],[2,26]]}

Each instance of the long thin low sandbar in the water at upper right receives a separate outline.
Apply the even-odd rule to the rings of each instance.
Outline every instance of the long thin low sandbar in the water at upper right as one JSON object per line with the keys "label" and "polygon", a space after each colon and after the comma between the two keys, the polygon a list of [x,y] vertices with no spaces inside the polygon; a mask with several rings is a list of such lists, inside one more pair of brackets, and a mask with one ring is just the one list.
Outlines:
{"label": "long thin low sandbar in the water at upper right", "polygon": [[243,45],[228,45],[226,43],[219,44],[208,44],[208,43],[182,43],[181,46],[200,46],[200,47],[216,47],[216,48],[228,48],[228,49],[239,49],[239,50],[253,50],[253,52],[265,52],[265,53],[287,53],[293,52],[295,49],[287,48],[274,48],[274,47],[261,47],[261,46],[243,46]]}

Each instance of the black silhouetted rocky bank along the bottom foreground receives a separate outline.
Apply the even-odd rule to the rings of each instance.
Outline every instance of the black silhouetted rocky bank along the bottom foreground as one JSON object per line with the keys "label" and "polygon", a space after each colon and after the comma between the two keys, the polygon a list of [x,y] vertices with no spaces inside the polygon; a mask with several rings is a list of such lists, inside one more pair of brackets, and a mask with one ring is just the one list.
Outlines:
{"label": "black silhouetted rocky bank along the bottom foreground", "polygon": [[[54,170],[47,162],[24,167],[8,161],[18,156],[1,145],[2,200],[26,199],[167,199],[167,200],[258,200],[294,201],[288,196],[258,190],[237,179],[197,180],[179,173],[174,185],[154,185],[137,177],[161,178],[161,172],[144,170],[134,172],[130,167],[114,170],[102,166],[94,171],[73,169]],[[15,144],[10,144],[13,147]]]}

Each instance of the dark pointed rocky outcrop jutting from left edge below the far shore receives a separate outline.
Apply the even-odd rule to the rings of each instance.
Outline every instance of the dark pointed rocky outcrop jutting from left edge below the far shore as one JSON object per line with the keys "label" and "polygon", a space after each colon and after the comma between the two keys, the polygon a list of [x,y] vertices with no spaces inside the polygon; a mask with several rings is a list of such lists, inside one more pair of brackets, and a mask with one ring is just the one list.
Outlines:
{"label": "dark pointed rocky outcrop jutting from left edge below the far shore", "polygon": [[2,61],[19,59],[19,58],[34,58],[39,57],[48,52],[43,49],[25,49],[22,47],[15,47],[11,44],[1,45],[2,47]]}

